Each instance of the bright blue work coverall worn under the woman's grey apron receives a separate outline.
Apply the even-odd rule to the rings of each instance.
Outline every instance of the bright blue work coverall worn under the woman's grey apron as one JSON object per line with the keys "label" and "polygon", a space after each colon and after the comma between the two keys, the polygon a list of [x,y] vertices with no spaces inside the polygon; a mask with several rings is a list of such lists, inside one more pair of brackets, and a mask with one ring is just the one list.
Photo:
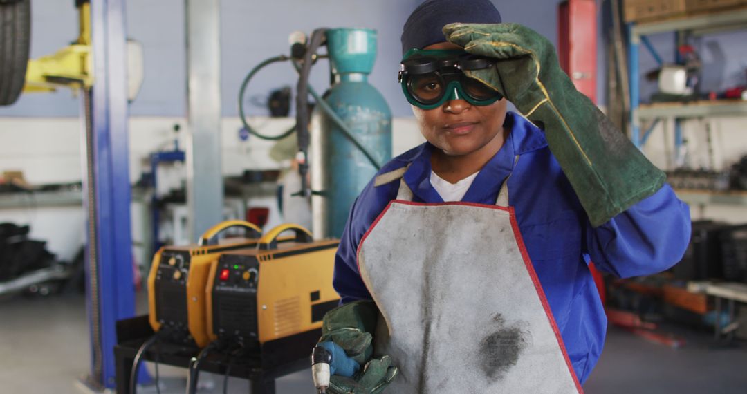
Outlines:
{"label": "bright blue work coverall worn under the woman's grey apron", "polygon": [[[653,196],[593,228],[543,131],[511,112],[504,127],[510,129],[506,142],[480,170],[462,201],[495,204],[503,180],[512,173],[509,205],[515,208],[529,257],[583,384],[597,363],[607,331],[607,316],[586,260],[619,278],[669,269],[681,260],[689,243],[689,207],[665,184]],[[404,181],[413,201],[443,202],[430,184],[433,149],[429,143],[413,148],[386,163],[379,174],[411,164]],[[399,184],[374,187],[371,181],[351,207],[335,257],[334,286],[343,304],[371,299],[359,275],[356,250],[379,213],[396,198]]]}

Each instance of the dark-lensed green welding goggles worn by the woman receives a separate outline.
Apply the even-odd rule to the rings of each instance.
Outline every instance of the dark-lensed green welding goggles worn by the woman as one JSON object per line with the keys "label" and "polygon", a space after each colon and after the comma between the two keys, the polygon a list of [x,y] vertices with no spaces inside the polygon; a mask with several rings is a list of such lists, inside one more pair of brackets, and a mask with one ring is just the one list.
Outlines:
{"label": "dark-lensed green welding goggles worn by the woman", "polygon": [[412,49],[403,57],[398,81],[410,104],[424,110],[448,100],[463,99],[472,105],[489,105],[503,96],[465,70],[487,69],[495,59],[461,50]]}

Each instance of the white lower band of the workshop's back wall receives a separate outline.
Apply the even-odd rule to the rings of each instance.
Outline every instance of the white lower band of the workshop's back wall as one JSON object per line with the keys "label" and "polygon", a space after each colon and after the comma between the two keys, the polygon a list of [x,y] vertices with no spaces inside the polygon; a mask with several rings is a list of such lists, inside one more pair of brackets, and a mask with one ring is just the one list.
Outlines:
{"label": "white lower band of the workshop's back wall", "polygon": [[[278,133],[293,123],[293,119],[252,118],[251,124],[267,134]],[[710,166],[707,137],[703,121],[684,123],[688,140],[690,164]],[[716,169],[725,169],[747,154],[747,118],[712,119],[713,162]],[[157,149],[173,146],[173,125],[182,125],[180,146],[184,148],[185,119],[179,117],[133,117],[130,119],[130,179],[140,178],[149,171],[148,155]],[[644,125],[645,126],[645,125]],[[249,138],[241,141],[238,118],[223,119],[221,145],[223,173],[238,175],[244,169],[276,169],[279,163],[270,159],[272,142]],[[73,182],[81,179],[80,122],[77,118],[3,118],[0,117],[0,171],[18,169],[31,184]],[[399,154],[423,141],[414,118],[394,119],[394,154]],[[672,122],[665,130],[657,126],[644,148],[645,154],[657,166],[672,168],[674,130]],[[182,182],[184,169],[168,167],[159,172],[159,188],[165,191]],[[734,205],[693,206],[693,219],[718,219],[727,222],[747,222],[747,207]],[[142,215],[134,207],[133,215]],[[84,242],[84,214],[79,207],[27,207],[0,210],[0,222],[30,224],[32,237],[49,240],[49,248],[63,259],[72,258]],[[142,240],[143,225],[136,219],[133,239]],[[71,231],[72,229],[72,231]]]}

